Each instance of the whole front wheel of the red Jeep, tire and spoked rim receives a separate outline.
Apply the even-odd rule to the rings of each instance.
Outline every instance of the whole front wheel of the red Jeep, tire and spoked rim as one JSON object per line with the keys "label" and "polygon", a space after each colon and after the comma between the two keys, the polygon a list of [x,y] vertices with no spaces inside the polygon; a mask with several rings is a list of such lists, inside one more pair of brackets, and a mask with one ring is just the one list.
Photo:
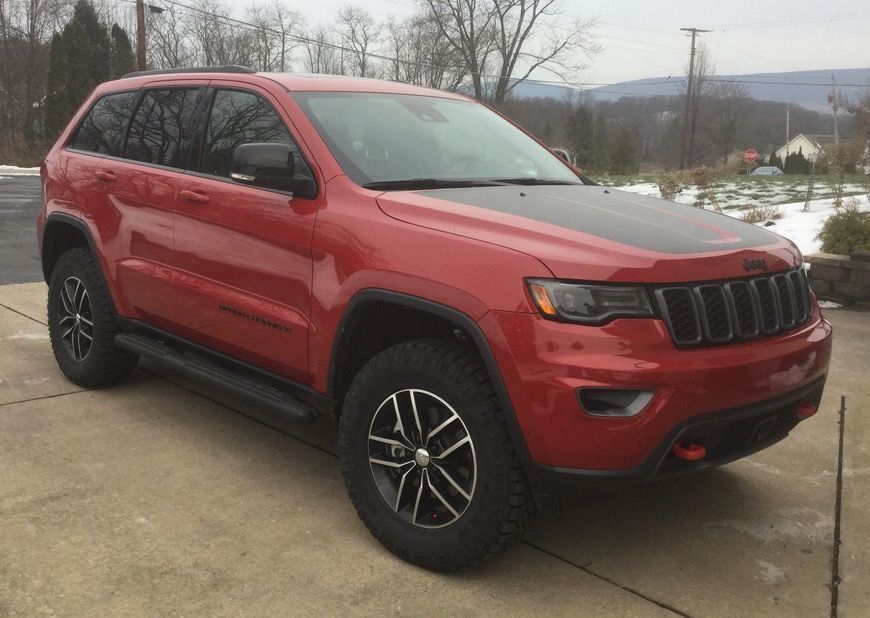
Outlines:
{"label": "whole front wheel of the red Jeep, tire and spoked rim", "polygon": [[456,342],[411,341],[373,358],[345,398],[339,453],[360,518],[414,564],[473,566],[519,541],[531,519],[492,385]]}

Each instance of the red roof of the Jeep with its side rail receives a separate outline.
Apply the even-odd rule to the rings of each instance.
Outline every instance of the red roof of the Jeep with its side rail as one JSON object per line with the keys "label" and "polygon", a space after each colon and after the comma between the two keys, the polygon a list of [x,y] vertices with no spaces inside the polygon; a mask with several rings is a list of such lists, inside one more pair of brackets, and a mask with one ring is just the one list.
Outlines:
{"label": "red roof of the Jeep with its side rail", "polygon": [[146,83],[171,79],[183,82],[185,79],[229,79],[233,81],[257,83],[265,80],[277,83],[289,92],[367,92],[384,94],[412,94],[434,96],[446,99],[470,100],[468,97],[444,90],[424,88],[383,79],[348,77],[345,75],[323,75],[314,73],[268,73],[239,70],[241,67],[199,67],[192,70],[167,69],[130,73],[121,79],[104,84],[102,90],[124,90],[140,88]]}

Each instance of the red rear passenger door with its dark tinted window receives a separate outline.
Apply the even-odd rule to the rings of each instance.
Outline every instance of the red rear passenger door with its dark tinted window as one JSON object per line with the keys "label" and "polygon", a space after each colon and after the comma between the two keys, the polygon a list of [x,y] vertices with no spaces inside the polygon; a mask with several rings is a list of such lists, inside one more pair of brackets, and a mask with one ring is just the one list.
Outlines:
{"label": "red rear passenger door with its dark tinted window", "polygon": [[99,165],[117,222],[113,242],[119,289],[138,317],[164,328],[176,321],[173,207],[205,85],[155,84],[141,90],[120,156]]}

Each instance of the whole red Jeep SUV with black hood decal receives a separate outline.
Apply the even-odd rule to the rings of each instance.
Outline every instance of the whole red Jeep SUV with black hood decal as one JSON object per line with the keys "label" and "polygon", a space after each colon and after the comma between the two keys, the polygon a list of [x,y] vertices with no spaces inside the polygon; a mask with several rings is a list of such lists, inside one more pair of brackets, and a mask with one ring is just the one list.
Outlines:
{"label": "whole red Jeep SUV with black hood decal", "polygon": [[371,533],[432,569],[542,502],[722,464],[819,404],[790,241],[607,189],[466,97],[212,67],[131,74],[42,165],[51,343],[338,420]]}

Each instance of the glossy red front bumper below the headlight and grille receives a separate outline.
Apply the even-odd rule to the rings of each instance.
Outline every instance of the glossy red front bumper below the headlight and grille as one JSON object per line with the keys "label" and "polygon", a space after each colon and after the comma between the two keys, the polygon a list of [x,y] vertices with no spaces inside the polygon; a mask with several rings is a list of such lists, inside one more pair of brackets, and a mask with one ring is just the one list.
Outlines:
{"label": "glossy red front bumper below the headlight and grille", "polygon": [[[831,355],[831,327],[818,310],[784,335],[691,350],[676,349],[655,319],[588,327],[493,311],[480,325],[525,439],[532,476],[564,469],[605,479],[649,476],[673,436],[708,415],[751,415],[766,402],[816,386],[821,397]],[[656,395],[637,416],[601,418],[580,408],[580,387]]]}

